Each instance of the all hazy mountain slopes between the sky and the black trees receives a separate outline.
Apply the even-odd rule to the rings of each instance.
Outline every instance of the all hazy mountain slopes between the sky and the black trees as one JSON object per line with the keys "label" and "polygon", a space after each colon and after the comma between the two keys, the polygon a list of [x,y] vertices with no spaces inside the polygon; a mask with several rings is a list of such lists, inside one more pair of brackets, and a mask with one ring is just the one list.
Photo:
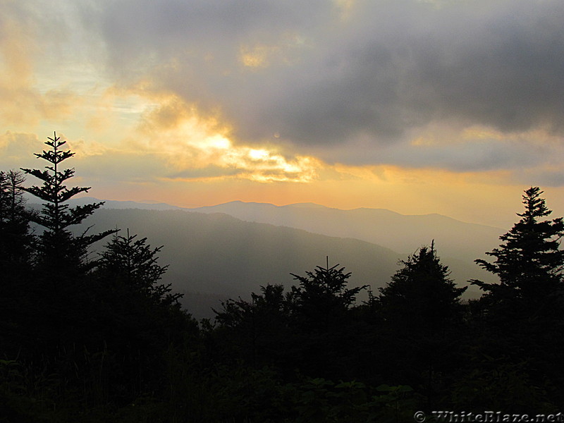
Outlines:
{"label": "all hazy mountain slopes between the sky and the black trees", "polygon": [[[98,201],[90,197],[75,204]],[[491,280],[473,263],[499,244],[504,231],[446,216],[404,216],[386,209],[340,210],[317,204],[230,202],[183,209],[169,204],[106,201],[85,226],[93,231],[126,229],[157,247],[169,264],[165,281],[185,293],[195,317],[212,317],[219,300],[248,297],[266,283],[291,286],[290,273],[341,264],[353,272],[352,286],[377,291],[406,259],[435,240],[439,256],[460,286],[471,278]],[[472,287],[470,297],[479,295]]]}

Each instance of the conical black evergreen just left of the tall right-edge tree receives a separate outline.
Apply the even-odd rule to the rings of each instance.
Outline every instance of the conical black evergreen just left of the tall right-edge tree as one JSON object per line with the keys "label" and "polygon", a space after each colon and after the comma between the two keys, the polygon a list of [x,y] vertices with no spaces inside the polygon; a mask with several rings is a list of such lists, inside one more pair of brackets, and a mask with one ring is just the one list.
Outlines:
{"label": "conical black evergreen just left of the tall right-edge tree", "polygon": [[377,300],[386,340],[378,358],[386,377],[421,389],[431,405],[446,389],[444,375],[455,367],[460,295],[466,288],[457,288],[448,277],[448,266],[441,264],[434,243],[400,264],[403,267],[380,288]]}

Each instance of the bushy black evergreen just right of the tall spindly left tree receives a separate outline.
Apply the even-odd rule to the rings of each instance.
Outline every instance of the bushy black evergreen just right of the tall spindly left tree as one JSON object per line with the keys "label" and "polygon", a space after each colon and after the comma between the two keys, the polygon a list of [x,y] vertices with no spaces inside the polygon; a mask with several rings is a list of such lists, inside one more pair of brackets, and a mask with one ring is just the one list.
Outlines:
{"label": "bushy black evergreen just right of the tall spindly left tree", "polygon": [[109,388],[123,403],[158,386],[164,352],[172,352],[197,330],[190,315],[180,310],[182,295],[171,293],[171,284],[159,283],[167,268],[157,263],[160,250],[147,245],[147,238],[115,233],[93,274],[96,302],[102,305],[93,332],[119,363]]}

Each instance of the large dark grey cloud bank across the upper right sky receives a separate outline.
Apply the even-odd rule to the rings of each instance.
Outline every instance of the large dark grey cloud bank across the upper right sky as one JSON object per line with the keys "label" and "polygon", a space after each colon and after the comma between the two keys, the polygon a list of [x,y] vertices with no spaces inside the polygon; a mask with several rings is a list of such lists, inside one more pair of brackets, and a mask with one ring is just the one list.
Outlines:
{"label": "large dark grey cloud bank across the upper right sky", "polygon": [[[148,75],[243,142],[389,145],[437,121],[564,129],[564,2],[351,4],[109,1],[89,18],[123,85]],[[264,67],[245,68],[241,49],[257,46]]]}

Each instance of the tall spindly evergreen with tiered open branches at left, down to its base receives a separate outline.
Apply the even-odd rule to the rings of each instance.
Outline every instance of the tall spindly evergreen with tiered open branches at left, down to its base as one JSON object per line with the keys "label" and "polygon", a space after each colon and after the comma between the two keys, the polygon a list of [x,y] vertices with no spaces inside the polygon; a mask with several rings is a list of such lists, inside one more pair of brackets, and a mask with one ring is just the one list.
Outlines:
{"label": "tall spindly evergreen with tiered open branches at left, down to its base", "polygon": [[[63,168],[62,162],[74,153],[61,148],[65,142],[56,133],[45,144],[51,148],[35,154],[48,162],[45,170],[21,169],[43,181],[41,186],[23,188],[43,202],[42,209],[30,215],[30,219],[43,228],[35,237],[32,269],[27,281],[26,300],[30,305],[25,312],[25,342],[35,343],[35,349],[28,348],[32,360],[49,357],[55,363],[60,357],[54,357],[61,350],[69,352],[72,349],[73,355],[80,356],[74,349],[77,345],[78,348],[80,345],[92,348],[94,341],[89,332],[97,305],[93,301],[95,287],[90,276],[95,262],[87,259],[88,247],[114,231],[96,235],[87,235],[87,231],[80,235],[71,232],[73,226],[90,216],[102,203],[69,206],[68,200],[90,188],[67,188],[66,183],[75,171]],[[78,358],[67,357],[66,360],[70,362]]]}

